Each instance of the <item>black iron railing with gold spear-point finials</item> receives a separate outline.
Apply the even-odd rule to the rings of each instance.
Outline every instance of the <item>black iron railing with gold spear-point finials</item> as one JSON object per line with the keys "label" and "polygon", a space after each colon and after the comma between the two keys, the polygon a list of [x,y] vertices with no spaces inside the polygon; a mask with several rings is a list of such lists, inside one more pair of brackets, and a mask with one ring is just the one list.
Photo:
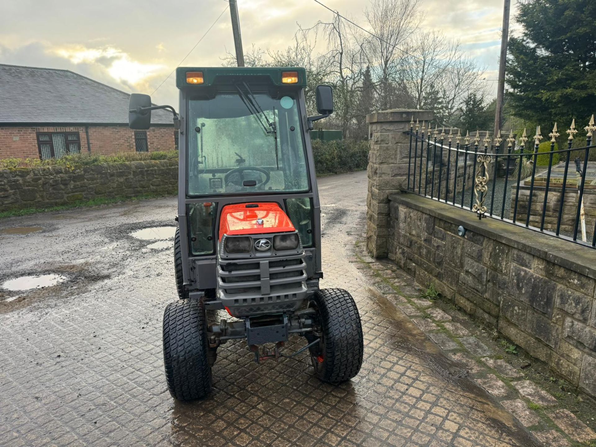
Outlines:
{"label": "black iron railing with gold spear-point finials", "polygon": [[[407,191],[489,217],[596,248],[596,131],[594,116],[586,126],[586,145],[573,147],[575,120],[566,132],[566,148],[557,148],[555,123],[550,150],[527,144],[526,129],[516,142],[501,131],[474,138],[427,129],[412,119],[408,132]],[[501,146],[504,146],[501,150]],[[573,163],[571,163],[573,160]],[[592,161],[593,160],[593,161]]]}

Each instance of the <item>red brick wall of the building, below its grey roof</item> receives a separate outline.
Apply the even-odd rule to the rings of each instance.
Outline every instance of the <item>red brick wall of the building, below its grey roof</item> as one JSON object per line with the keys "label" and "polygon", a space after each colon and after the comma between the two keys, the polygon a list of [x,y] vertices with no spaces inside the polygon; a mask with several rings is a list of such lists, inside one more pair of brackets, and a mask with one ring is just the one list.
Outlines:
{"label": "red brick wall of the building, below its grey roof", "polygon": [[[134,152],[135,133],[128,126],[89,126],[91,153],[113,154]],[[88,151],[85,126],[82,127],[0,127],[0,159],[39,158],[36,132],[79,132],[80,149]],[[154,127],[147,131],[147,145],[150,152],[173,150],[173,127]]]}

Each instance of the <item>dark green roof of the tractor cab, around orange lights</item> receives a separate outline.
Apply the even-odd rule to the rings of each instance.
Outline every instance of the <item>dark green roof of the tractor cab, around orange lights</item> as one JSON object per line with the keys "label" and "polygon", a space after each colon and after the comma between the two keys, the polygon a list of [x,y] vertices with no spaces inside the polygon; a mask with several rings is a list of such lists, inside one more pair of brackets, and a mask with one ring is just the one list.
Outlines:
{"label": "dark green roof of the tractor cab, around orange lights", "polygon": [[[186,82],[187,72],[202,72],[204,82],[202,84],[188,84]],[[281,73],[297,72],[298,82],[294,84],[284,84],[281,82]],[[306,87],[306,69],[301,67],[178,67],[176,69],[176,87],[200,89],[213,85],[221,77],[250,77],[268,78],[272,85],[285,87]]]}

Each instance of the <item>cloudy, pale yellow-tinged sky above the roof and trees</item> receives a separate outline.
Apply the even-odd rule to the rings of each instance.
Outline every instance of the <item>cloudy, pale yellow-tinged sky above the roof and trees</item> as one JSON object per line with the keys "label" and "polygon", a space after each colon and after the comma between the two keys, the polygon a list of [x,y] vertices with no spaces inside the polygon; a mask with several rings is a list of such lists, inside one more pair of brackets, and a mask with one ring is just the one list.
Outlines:
{"label": "cloudy, pale yellow-tinged sky above the roof and trees", "polygon": [[[370,0],[321,0],[366,27]],[[237,0],[244,51],[285,49],[300,24],[333,14],[312,0]],[[512,32],[516,33],[512,0]],[[226,0],[2,0],[0,63],[67,69],[125,92],[151,94],[207,32],[182,66],[221,66],[234,41]],[[459,39],[496,79],[503,0],[421,0],[422,26]],[[224,11],[225,10],[225,11]],[[153,94],[178,105],[175,75]],[[489,91],[496,82],[489,82]],[[1,102],[1,98],[0,98]]]}

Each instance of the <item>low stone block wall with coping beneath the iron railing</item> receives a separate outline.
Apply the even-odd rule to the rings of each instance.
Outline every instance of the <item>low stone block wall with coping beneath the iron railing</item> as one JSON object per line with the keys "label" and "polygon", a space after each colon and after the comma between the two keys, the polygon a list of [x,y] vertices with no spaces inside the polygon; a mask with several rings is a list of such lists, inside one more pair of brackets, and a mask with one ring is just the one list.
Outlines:
{"label": "low stone block wall with coping beneath the iron railing", "polygon": [[389,195],[387,237],[418,283],[596,396],[596,250],[414,194]]}

